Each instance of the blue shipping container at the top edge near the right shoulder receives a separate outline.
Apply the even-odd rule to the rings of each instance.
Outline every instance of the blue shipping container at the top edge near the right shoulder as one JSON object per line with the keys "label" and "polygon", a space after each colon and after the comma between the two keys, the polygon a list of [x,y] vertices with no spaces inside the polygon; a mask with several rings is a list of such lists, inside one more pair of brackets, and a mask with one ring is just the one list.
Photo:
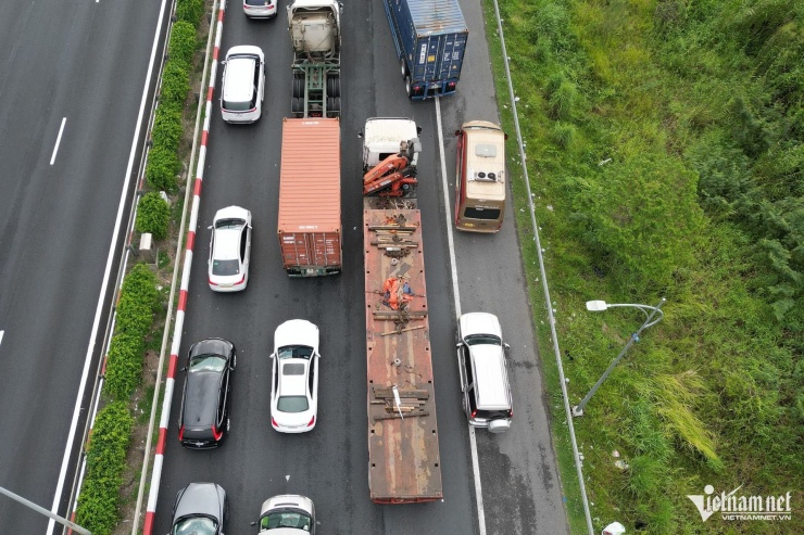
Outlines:
{"label": "blue shipping container at the top edge near the right shoulder", "polygon": [[382,0],[407,95],[455,92],[469,28],[457,0]]}

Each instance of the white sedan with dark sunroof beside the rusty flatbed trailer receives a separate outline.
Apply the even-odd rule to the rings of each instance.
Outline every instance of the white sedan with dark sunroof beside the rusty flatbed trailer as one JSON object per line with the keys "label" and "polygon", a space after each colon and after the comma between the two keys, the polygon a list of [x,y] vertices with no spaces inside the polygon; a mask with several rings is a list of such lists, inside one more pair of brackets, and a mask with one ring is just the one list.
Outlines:
{"label": "white sedan with dark sunroof beside the rusty flatbed trailer", "polygon": [[318,411],[318,328],[291,319],[276,328],[271,383],[271,424],[280,433],[304,433]]}

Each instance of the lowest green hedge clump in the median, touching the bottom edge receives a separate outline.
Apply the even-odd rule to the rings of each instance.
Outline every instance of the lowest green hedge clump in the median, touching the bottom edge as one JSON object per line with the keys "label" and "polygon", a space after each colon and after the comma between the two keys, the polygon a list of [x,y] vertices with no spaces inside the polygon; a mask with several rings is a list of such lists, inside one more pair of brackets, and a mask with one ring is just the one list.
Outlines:
{"label": "lowest green hedge clump in the median, touching the bottom edge", "polygon": [[96,535],[112,533],[120,520],[121,475],[126,468],[133,424],[124,402],[106,405],[95,420],[75,521]]}

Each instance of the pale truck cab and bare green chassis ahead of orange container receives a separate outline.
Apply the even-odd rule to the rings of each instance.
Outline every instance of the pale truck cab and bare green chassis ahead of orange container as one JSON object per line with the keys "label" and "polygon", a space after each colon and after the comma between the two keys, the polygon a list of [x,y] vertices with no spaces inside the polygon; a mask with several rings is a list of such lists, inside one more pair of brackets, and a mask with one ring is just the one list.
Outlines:
{"label": "pale truck cab and bare green chassis ahead of orange container", "polygon": [[288,5],[293,46],[293,117],[340,115],[340,14],[335,0],[296,0]]}

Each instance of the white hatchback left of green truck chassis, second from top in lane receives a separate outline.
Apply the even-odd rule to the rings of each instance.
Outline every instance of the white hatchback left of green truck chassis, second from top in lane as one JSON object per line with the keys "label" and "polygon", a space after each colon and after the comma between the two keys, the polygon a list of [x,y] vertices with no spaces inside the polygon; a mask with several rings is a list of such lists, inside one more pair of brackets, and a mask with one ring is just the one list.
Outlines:
{"label": "white hatchback left of green truck chassis, second from top in lane", "polygon": [[223,62],[221,115],[227,123],[254,123],[262,115],[265,55],[260,47],[231,47]]}

